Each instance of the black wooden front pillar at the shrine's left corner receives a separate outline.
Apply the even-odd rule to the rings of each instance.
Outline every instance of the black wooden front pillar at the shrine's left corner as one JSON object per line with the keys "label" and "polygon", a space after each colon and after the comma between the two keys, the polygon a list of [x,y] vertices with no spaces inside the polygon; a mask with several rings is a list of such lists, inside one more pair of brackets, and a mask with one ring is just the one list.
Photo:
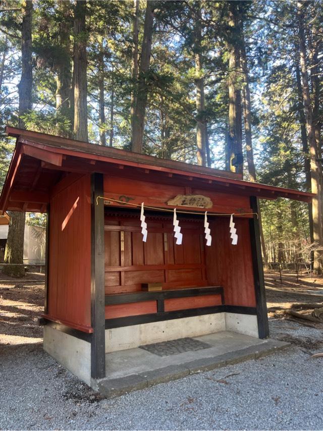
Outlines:
{"label": "black wooden front pillar at the shrine's left corner", "polygon": [[91,377],[105,377],[103,175],[91,175]]}

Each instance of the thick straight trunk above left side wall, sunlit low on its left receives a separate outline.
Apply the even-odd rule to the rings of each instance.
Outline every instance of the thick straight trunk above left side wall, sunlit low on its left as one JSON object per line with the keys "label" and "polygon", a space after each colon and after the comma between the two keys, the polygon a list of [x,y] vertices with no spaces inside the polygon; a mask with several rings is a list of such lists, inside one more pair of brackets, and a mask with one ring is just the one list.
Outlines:
{"label": "thick straight trunk above left side wall, sunlit low on its left", "polygon": [[86,58],[86,0],[77,0],[74,12],[73,85],[74,136],[88,141],[87,134],[87,58]]}

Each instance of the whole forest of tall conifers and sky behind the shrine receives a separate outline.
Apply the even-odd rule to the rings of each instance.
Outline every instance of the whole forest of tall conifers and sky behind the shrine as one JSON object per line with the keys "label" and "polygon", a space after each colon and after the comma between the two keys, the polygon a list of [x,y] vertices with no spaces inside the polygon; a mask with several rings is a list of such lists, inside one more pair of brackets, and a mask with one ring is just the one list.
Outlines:
{"label": "whole forest of tall conifers and sky behind the shrine", "polygon": [[[1,1],[0,187],[7,124],[241,172],[315,193],[260,201],[262,252],[322,272],[321,6]],[[19,263],[25,214],[10,215],[5,260]]]}

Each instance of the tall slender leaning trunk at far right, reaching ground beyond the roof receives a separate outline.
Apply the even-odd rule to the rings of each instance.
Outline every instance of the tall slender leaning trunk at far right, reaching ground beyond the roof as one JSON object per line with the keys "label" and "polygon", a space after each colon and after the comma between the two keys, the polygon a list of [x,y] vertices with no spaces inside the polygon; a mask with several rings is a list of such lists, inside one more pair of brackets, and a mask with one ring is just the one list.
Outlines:
{"label": "tall slender leaning trunk at far right, reaching ground beyond the roof", "polygon": [[322,228],[321,228],[321,198],[319,195],[319,166],[317,161],[317,147],[313,123],[313,111],[310,100],[308,75],[306,66],[306,45],[304,34],[303,2],[297,2],[298,36],[300,49],[300,66],[302,75],[302,89],[304,113],[306,119],[307,138],[310,153],[311,192],[315,194],[312,200],[313,238],[315,244],[313,269],[315,274],[321,274],[323,268]]}

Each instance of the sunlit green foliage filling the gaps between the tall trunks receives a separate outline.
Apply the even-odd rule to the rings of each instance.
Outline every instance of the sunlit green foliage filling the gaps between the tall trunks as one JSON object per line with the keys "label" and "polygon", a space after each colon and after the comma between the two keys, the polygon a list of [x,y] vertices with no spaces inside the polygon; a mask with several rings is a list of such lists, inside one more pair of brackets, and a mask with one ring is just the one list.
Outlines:
{"label": "sunlit green foliage filling the gaps between the tall trunks", "polygon": [[[243,30],[251,89],[254,158],[258,181],[277,186],[306,189],[300,135],[299,94],[295,75],[298,62],[296,2],[237,2],[240,28],[230,28],[230,2],[163,1],[155,3],[150,68],[144,79],[148,102],[144,151],[158,157],[196,163],[196,122],[207,122],[212,166],[225,167],[228,123],[228,59],[230,46],[241,47]],[[23,116],[29,129],[71,136],[73,130],[72,64],[75,3],[34,2],[33,13],[33,109]],[[0,2],[0,64],[5,55],[0,88],[0,185],[8,170],[14,143],[5,137],[6,124],[18,124],[18,89],[21,75],[20,31],[22,2]],[[86,32],[78,37],[87,46],[88,133],[100,142],[105,132],[113,146],[130,150],[133,2],[88,1]],[[196,44],[194,25],[201,9],[202,41]],[[145,2],[139,8],[139,60],[143,39]],[[318,65],[321,81],[323,12],[317,1],[306,3],[306,32],[317,30]],[[64,33],[65,32],[65,33]],[[307,46],[309,50],[311,46]],[[197,74],[195,54],[203,67]],[[0,68],[1,69],[1,68]],[[245,83],[234,73],[241,90]],[[63,75],[63,78],[62,78]],[[197,115],[196,80],[203,78],[205,110]],[[61,80],[61,81],[60,81]],[[67,100],[57,104],[60,84]],[[100,120],[100,84],[103,83],[104,122]],[[63,85],[62,84],[62,85]],[[312,86],[312,82],[310,82]],[[312,88],[311,88],[312,90]],[[66,95],[68,94],[68,95]],[[102,100],[101,100],[102,102]],[[113,113],[113,116],[111,115]],[[113,117],[113,120],[112,120]],[[322,90],[319,121],[322,122]],[[245,144],[244,130],[243,143]],[[245,148],[245,145],[244,145]],[[245,150],[244,150],[245,151]],[[248,179],[245,165],[245,178]],[[291,207],[285,200],[261,204],[267,244],[277,247],[282,236],[309,240],[308,208]],[[292,212],[292,210],[294,212]],[[292,218],[296,210],[296,219]],[[43,226],[44,218],[30,215],[31,224]],[[272,253],[273,254],[273,253]]]}

